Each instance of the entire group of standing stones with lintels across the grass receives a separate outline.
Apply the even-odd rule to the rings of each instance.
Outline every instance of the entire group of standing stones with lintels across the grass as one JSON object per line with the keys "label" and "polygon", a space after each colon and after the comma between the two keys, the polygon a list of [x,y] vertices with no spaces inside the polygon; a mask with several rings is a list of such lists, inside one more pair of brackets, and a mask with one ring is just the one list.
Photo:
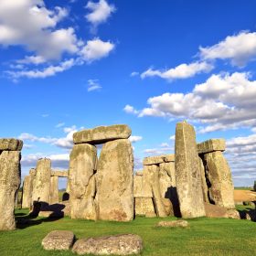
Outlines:
{"label": "entire group of standing stones with lintels across the grass", "polygon": [[[33,211],[35,203],[44,204],[47,209],[39,216],[53,216],[56,212],[50,207],[58,205],[71,219],[113,221],[131,221],[138,215],[185,219],[212,216],[214,206],[234,211],[224,139],[197,144],[194,127],[177,123],[175,154],[145,157],[143,170],[133,174],[131,133],[124,124],[74,133],[69,169],[53,169],[50,159],[39,159],[24,178],[22,208]],[[16,228],[14,209],[22,146],[20,140],[0,139],[1,230]],[[60,203],[59,177],[68,178],[69,193]]]}

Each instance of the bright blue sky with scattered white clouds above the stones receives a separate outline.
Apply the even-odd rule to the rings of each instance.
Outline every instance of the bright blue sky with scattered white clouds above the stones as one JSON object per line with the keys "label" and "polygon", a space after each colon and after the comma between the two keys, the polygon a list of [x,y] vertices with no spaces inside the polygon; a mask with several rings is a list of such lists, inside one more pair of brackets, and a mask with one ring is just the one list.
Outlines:
{"label": "bright blue sky with scattered white clouds above the stones", "polygon": [[254,1],[0,3],[1,137],[68,168],[72,133],[127,123],[135,168],[174,153],[176,122],[225,138],[235,186],[256,179]]}

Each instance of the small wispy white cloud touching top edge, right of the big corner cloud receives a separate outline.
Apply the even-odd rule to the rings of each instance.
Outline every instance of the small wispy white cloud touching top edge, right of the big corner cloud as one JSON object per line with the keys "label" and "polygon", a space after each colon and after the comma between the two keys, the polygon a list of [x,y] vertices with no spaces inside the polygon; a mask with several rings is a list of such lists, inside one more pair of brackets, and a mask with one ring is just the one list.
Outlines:
{"label": "small wispy white cloud touching top edge, right of the big corner cloud", "polygon": [[91,12],[86,15],[86,19],[91,23],[95,30],[101,23],[107,21],[107,19],[115,12],[115,6],[109,5],[107,1],[100,0],[98,3],[88,2],[86,8]]}

